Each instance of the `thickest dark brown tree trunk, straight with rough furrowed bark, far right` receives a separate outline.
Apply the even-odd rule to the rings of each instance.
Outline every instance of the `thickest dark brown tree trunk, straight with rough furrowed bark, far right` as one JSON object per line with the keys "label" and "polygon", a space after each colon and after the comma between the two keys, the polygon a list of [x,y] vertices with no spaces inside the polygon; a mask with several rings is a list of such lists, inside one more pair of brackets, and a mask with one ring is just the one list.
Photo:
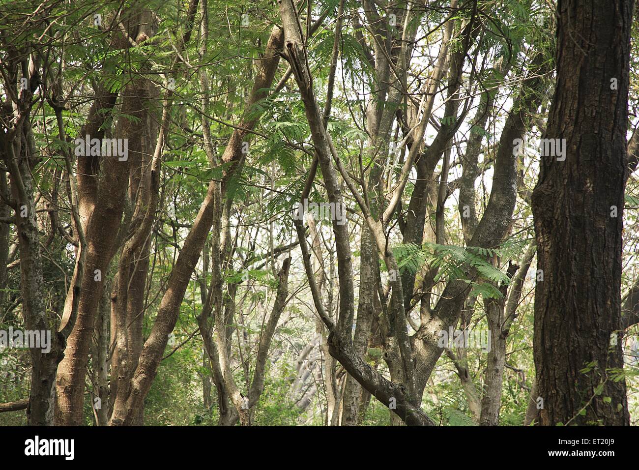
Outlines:
{"label": "thickest dark brown tree trunk, straight with rough furrowed bark, far right", "polygon": [[[560,0],[557,86],[532,195],[540,424],[628,425],[620,281],[633,0]],[[562,157],[560,157],[562,158]]]}

